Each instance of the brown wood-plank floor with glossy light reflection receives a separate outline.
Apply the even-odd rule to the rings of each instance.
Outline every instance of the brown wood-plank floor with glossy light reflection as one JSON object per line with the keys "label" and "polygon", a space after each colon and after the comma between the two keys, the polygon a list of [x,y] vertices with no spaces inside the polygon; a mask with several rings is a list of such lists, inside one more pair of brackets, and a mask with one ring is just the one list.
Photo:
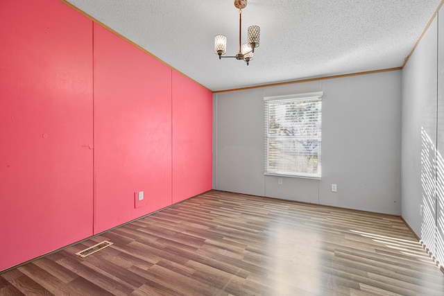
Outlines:
{"label": "brown wood-plank floor with glossy light reflection", "polygon": [[400,218],[210,191],[3,272],[0,295],[428,296],[444,274]]}

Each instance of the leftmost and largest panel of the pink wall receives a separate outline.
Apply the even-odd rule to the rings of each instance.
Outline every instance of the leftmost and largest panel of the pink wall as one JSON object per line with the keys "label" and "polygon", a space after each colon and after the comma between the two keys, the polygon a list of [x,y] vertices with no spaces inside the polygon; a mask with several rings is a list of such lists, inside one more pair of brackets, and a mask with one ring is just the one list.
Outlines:
{"label": "leftmost and largest panel of the pink wall", "polygon": [[92,235],[92,21],[3,0],[0,40],[3,270]]}

